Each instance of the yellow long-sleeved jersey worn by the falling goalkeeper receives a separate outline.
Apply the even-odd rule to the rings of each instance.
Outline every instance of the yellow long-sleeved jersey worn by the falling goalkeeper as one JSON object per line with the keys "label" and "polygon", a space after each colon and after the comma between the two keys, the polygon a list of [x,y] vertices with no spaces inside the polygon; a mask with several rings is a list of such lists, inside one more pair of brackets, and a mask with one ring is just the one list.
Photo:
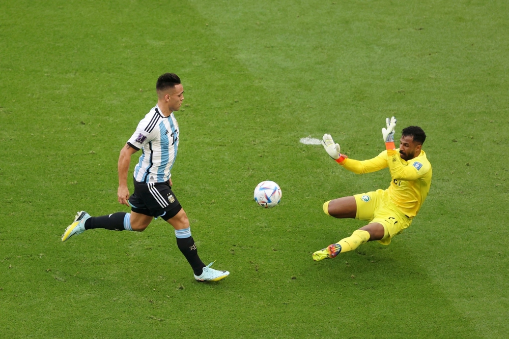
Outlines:
{"label": "yellow long-sleeved jersey worn by the falling goalkeeper", "polygon": [[418,157],[405,161],[396,149],[384,150],[370,160],[347,158],[341,165],[357,174],[375,172],[389,168],[391,182],[388,196],[408,217],[415,217],[420,206],[426,200],[431,186],[431,164],[426,152],[421,150]]}

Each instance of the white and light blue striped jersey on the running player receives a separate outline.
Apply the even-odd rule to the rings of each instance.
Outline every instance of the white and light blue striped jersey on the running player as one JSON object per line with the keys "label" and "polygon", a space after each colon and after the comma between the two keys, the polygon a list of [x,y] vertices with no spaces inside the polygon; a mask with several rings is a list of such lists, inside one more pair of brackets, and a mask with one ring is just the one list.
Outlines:
{"label": "white and light blue striped jersey on the running player", "polygon": [[170,170],[177,157],[179,146],[179,124],[175,115],[164,117],[157,105],[139,121],[136,131],[127,141],[142,156],[134,168],[134,179],[138,182],[164,182],[172,176]]}

